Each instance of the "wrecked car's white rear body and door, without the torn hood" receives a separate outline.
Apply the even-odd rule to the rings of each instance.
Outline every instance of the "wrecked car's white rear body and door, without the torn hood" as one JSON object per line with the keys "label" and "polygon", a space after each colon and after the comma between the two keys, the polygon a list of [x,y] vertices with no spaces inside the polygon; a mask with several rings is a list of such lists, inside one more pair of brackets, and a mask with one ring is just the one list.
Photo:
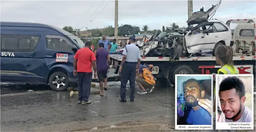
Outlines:
{"label": "wrecked car's white rear body and door, without the torn hood", "polygon": [[220,20],[208,20],[190,30],[183,39],[185,52],[188,53],[215,53],[219,45],[232,46],[231,29]]}

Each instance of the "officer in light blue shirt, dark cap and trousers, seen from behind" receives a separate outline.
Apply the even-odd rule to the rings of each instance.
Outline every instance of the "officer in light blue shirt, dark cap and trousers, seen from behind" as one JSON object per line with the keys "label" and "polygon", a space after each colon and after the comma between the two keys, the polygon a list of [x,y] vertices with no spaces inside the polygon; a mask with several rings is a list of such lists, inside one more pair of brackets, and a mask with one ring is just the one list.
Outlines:
{"label": "officer in light blue shirt, dark cap and trousers, seen from behind", "polygon": [[129,42],[130,44],[127,44],[123,51],[123,58],[122,62],[120,64],[120,72],[121,72],[121,88],[120,88],[120,99],[121,102],[126,102],[126,84],[129,80],[130,82],[130,88],[131,88],[131,94],[130,94],[130,101],[134,101],[134,91],[135,91],[135,77],[136,74],[139,73],[139,67],[137,65],[140,65],[140,49],[137,47],[134,43],[136,41],[135,37],[130,37]]}

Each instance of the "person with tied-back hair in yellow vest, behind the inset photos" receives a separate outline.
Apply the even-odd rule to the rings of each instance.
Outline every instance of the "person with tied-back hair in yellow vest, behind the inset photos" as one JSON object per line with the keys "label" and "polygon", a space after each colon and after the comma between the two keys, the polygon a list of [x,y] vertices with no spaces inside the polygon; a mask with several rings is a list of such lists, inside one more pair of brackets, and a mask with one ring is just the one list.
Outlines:
{"label": "person with tied-back hair in yellow vest, behind the inset photos", "polygon": [[[218,65],[221,65],[221,68],[218,70],[217,74],[239,74],[239,70],[235,67],[233,62],[233,49],[230,46],[219,45],[215,52],[216,62]],[[215,86],[216,88],[216,86]],[[216,89],[214,89],[214,112],[216,107]],[[217,105],[218,109],[218,119],[221,115],[220,107]],[[225,130],[226,131],[226,130]]]}

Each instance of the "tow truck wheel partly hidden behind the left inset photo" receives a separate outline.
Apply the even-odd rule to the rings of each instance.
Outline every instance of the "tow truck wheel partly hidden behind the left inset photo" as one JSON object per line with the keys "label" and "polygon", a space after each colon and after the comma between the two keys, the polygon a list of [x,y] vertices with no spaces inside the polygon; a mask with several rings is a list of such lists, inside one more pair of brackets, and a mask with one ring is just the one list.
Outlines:
{"label": "tow truck wheel partly hidden behind the left inset photo", "polygon": [[169,74],[169,81],[172,85],[175,85],[175,75],[176,74],[194,74],[193,70],[186,65],[179,65],[172,68]]}

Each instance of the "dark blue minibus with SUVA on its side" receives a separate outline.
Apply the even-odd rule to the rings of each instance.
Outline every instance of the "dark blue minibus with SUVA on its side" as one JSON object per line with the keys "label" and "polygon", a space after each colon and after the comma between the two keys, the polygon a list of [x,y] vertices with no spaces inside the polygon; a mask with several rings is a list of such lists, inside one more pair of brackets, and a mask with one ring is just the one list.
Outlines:
{"label": "dark blue minibus with SUVA on its side", "polygon": [[66,90],[76,84],[73,62],[84,42],[61,28],[26,22],[1,22],[1,82],[49,84]]}

